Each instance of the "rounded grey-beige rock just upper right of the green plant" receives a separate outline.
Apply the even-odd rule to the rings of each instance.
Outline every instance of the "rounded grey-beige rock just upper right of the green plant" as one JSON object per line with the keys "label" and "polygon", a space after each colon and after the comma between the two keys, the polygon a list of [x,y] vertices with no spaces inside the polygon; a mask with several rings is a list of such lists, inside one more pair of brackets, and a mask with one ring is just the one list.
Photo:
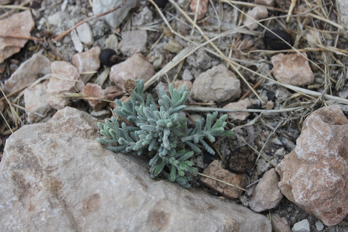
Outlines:
{"label": "rounded grey-beige rock just upper right of the green plant", "polygon": [[203,102],[222,102],[239,97],[241,92],[239,79],[224,64],[220,64],[196,77],[190,94]]}

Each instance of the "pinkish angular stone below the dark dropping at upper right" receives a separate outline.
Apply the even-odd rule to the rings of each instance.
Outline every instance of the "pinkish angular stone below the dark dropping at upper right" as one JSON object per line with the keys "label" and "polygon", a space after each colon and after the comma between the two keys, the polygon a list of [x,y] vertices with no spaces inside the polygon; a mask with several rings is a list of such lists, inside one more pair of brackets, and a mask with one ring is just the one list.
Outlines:
{"label": "pinkish angular stone below the dark dropping at upper right", "polygon": [[[306,53],[302,53],[307,58]],[[308,60],[300,54],[280,53],[271,58],[273,76],[284,84],[304,86],[314,81],[314,75],[309,67]]]}

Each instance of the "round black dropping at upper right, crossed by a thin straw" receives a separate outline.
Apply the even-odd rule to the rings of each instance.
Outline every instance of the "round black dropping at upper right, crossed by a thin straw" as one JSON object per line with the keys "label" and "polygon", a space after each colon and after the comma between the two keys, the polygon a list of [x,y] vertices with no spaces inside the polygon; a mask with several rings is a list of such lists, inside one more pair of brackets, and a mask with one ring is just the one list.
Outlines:
{"label": "round black dropping at upper right, crossed by a thin straw", "polygon": [[[293,45],[292,41],[291,41],[291,35],[289,33],[287,33],[286,31],[275,30],[273,32],[276,35],[278,35],[280,38],[287,41],[289,44]],[[273,35],[269,31],[266,31],[265,36],[264,36],[264,41],[265,41],[266,45],[268,45],[272,50],[286,50],[286,49],[291,48],[283,40],[279,39],[277,36]]]}

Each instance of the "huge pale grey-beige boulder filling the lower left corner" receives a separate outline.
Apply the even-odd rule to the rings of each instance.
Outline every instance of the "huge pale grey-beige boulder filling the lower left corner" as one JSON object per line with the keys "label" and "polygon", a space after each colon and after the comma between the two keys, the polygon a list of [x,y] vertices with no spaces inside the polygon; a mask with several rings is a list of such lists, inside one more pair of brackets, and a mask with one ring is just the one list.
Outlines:
{"label": "huge pale grey-beige boulder filling the lower left corner", "polygon": [[151,179],[140,156],[114,154],[96,141],[96,123],[66,107],[7,139],[0,162],[1,230],[271,231],[264,215]]}

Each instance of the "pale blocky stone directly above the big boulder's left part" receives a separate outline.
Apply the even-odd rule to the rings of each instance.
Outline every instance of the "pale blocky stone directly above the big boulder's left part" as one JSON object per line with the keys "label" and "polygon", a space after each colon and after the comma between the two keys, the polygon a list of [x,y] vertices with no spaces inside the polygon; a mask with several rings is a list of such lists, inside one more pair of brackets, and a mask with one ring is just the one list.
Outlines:
{"label": "pale blocky stone directly above the big boulder's left part", "polygon": [[24,90],[25,108],[35,113],[39,113],[43,116],[41,117],[39,115],[26,111],[26,121],[30,124],[40,121],[46,121],[52,115],[50,115],[49,113],[51,113],[53,109],[47,102],[47,82],[48,81],[44,81],[32,88],[26,88]]}

